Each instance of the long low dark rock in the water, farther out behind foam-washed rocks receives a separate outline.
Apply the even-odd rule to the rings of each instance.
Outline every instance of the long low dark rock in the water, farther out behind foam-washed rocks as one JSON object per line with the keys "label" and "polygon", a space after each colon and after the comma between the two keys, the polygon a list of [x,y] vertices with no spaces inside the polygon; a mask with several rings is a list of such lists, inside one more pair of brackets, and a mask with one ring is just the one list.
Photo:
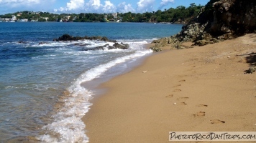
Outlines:
{"label": "long low dark rock in the water, farther out behind foam-washed rocks", "polygon": [[106,36],[70,36],[68,34],[63,34],[58,39],[53,39],[53,41],[78,41],[78,40],[98,40],[98,41],[109,41],[116,42],[116,40],[111,40],[106,38]]}

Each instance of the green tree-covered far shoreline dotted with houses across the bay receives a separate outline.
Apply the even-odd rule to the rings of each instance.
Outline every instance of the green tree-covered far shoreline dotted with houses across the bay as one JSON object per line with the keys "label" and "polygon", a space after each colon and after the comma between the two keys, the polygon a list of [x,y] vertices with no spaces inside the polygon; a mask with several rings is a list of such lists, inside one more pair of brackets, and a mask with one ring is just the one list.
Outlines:
{"label": "green tree-covered far shoreline dotted with houses across the bay", "polygon": [[[165,9],[164,11],[157,10],[152,12],[140,13],[117,13],[117,16],[112,14],[50,14],[48,12],[31,12],[22,11],[14,14],[0,15],[1,18],[12,18],[12,15],[17,16],[17,19],[28,19],[28,21],[73,21],[73,22],[104,22],[117,21],[122,22],[170,22],[170,23],[187,23],[197,16],[198,12],[203,6],[190,4],[187,8],[185,6],[178,6],[173,9]],[[104,17],[107,16],[107,19]]]}

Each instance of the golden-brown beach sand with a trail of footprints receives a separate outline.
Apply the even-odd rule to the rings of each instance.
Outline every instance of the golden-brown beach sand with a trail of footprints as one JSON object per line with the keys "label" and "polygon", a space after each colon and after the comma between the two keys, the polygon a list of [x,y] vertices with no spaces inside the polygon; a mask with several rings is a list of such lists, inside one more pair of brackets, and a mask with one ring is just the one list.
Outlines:
{"label": "golden-brown beach sand with a trail of footprints", "polygon": [[152,54],[101,85],[106,94],[83,118],[90,142],[168,142],[170,131],[255,132],[256,73],[244,74],[256,66],[252,52],[255,34]]}

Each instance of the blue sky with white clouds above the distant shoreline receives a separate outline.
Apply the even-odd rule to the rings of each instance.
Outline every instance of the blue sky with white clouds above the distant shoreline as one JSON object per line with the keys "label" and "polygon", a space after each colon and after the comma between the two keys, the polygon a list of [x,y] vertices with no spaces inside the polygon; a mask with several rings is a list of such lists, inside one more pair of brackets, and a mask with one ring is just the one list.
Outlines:
{"label": "blue sky with white clouds above the distant shoreline", "polygon": [[0,14],[17,11],[43,11],[55,14],[144,13],[157,10],[206,5],[209,0],[0,0]]}

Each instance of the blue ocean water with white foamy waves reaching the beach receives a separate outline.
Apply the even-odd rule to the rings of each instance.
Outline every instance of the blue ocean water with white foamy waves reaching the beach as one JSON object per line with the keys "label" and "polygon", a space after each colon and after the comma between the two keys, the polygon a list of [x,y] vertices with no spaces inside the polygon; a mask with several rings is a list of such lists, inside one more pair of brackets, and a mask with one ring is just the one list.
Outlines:
{"label": "blue ocean water with white foamy waves reaching the beach", "polygon": [[[182,25],[147,23],[0,23],[0,142],[88,142],[93,80],[117,75],[143,56],[145,44]],[[84,51],[104,41],[52,41],[63,34],[106,36],[129,49]],[[39,44],[44,42],[45,44]],[[86,84],[87,83],[87,84]]]}

